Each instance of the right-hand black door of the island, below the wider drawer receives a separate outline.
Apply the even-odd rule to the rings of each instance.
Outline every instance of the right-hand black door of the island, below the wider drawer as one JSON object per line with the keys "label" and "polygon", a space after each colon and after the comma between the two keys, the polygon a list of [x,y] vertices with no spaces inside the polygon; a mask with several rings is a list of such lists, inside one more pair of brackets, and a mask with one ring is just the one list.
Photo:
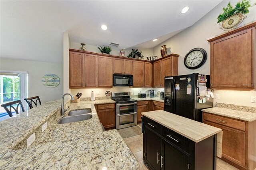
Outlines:
{"label": "right-hand black door of the island, below the wider drawer", "polygon": [[189,156],[162,139],[160,163],[162,163],[161,170],[186,170],[188,169]]}

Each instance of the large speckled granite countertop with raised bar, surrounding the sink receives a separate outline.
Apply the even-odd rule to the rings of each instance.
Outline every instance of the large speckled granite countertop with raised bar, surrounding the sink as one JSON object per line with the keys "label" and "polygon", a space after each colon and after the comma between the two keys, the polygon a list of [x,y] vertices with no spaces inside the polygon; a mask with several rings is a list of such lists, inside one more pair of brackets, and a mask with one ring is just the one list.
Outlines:
{"label": "large speckled granite countertop with raised bar, surrounding the sink", "polygon": [[[118,132],[103,132],[100,126],[94,104],[113,100],[68,103],[65,114],[92,109],[91,119],[68,124],[57,124],[60,103],[50,101],[0,122],[0,169],[139,169]],[[47,128],[41,132],[45,122]],[[26,148],[26,138],[34,132],[36,140]]]}

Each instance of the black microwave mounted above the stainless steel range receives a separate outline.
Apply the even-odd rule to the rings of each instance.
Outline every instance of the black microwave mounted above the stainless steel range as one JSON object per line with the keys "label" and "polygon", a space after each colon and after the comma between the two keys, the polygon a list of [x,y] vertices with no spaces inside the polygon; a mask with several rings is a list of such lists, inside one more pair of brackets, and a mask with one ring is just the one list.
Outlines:
{"label": "black microwave mounted above the stainless steel range", "polygon": [[133,75],[113,74],[114,86],[133,86]]}

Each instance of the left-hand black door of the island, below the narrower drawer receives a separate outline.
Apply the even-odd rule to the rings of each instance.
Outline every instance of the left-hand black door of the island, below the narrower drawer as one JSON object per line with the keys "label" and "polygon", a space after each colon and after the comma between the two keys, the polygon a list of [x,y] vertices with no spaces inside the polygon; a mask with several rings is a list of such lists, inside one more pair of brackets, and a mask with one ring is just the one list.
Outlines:
{"label": "left-hand black door of the island, below the narrower drawer", "polygon": [[160,170],[161,137],[145,126],[145,161],[153,170]]}

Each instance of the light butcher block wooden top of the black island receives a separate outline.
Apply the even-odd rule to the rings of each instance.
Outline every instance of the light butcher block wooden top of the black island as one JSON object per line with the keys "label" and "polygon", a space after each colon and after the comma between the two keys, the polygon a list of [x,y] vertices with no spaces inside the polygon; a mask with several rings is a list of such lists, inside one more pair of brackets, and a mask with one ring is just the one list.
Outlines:
{"label": "light butcher block wooden top of the black island", "polygon": [[142,112],[141,114],[196,143],[222,131],[220,128],[196,122],[164,110]]}

